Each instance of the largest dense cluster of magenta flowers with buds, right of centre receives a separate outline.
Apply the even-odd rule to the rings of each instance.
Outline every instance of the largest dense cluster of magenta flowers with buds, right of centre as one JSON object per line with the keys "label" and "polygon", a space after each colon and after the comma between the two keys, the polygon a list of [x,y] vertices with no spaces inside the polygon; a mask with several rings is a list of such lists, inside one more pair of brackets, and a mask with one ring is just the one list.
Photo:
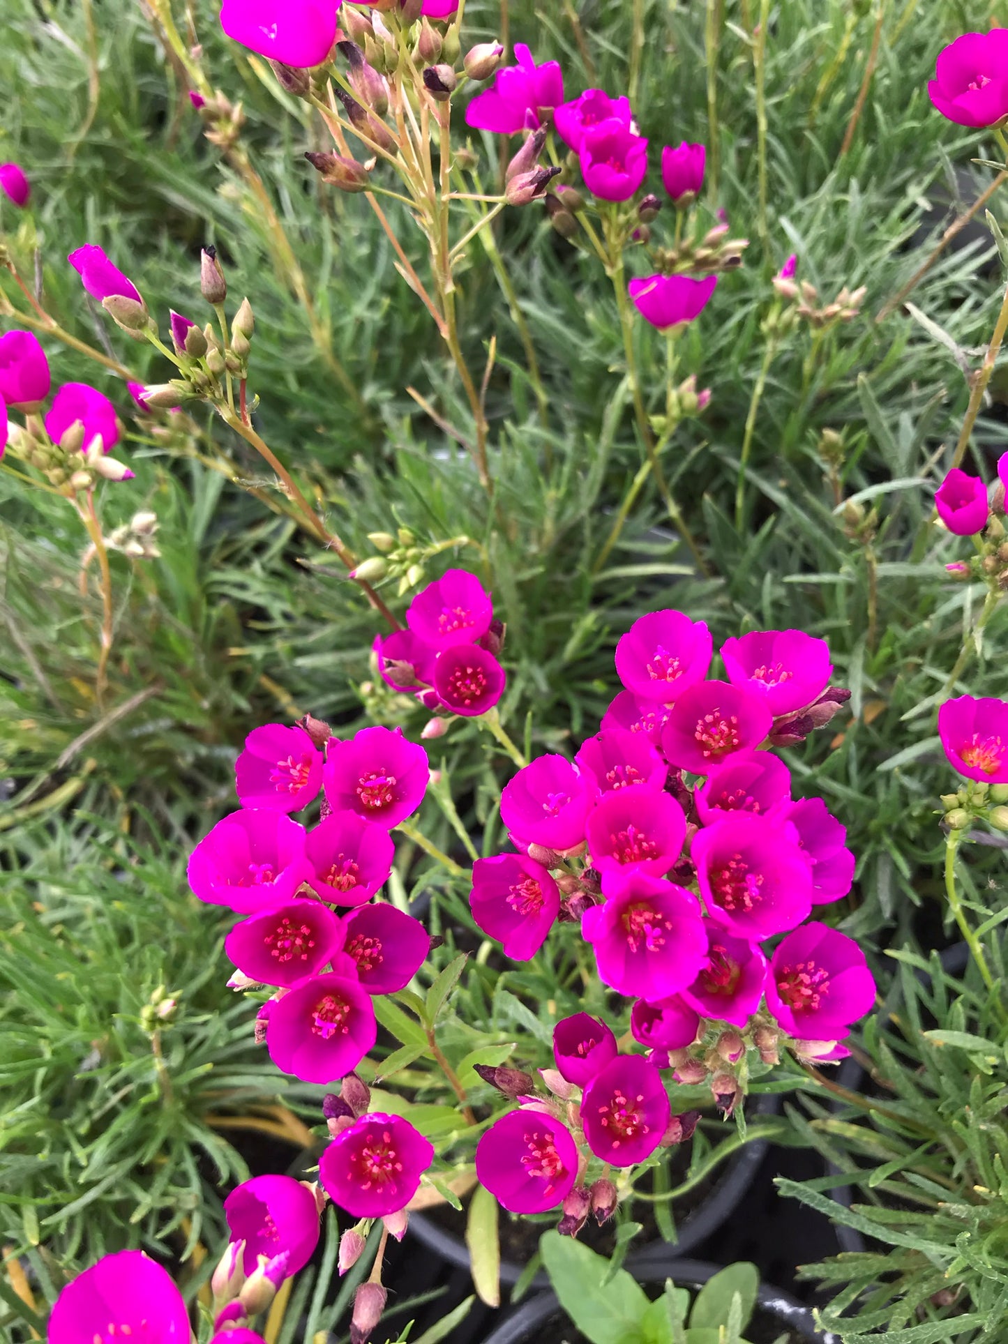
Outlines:
{"label": "largest dense cluster of magenta flowers with buds, right of centre", "polygon": [[[616,1165],[618,1145],[629,1164],[663,1141],[660,1070],[708,1079],[730,1113],[747,1047],[765,1064],[781,1044],[839,1059],[875,997],[857,945],[804,922],[851,888],[845,829],[821,798],[792,797],[788,766],[767,750],[804,739],[847,699],[829,685],[827,644],[755,630],[720,657],[727,680],[708,679],[710,630],[681,612],[636,621],[616,650],[624,689],[601,731],[574,761],[542,755],[519,770],[500,800],[515,851],[473,866],[473,917],[508,956],[528,960],[558,919],[579,922],[602,984],[636,1000],[630,1028],[646,1059],[617,1055],[609,1028],[583,1015],[555,1039],[560,1075],[585,1089],[583,1142]],[[508,1181],[530,1163],[544,1173],[536,1198],[552,1200],[540,1208],[583,1173],[555,1106],[534,1097],[480,1148],[481,1180],[505,1204],[523,1198]]]}

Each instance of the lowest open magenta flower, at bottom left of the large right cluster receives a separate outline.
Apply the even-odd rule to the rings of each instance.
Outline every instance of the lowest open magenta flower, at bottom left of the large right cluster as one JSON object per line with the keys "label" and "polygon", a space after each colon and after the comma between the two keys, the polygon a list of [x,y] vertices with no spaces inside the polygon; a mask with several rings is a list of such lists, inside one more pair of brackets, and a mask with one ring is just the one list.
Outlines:
{"label": "lowest open magenta flower, at bottom left of the large right cluster", "polygon": [[476,1179],[512,1214],[556,1208],[578,1179],[578,1145],[564,1124],[520,1106],[476,1145]]}

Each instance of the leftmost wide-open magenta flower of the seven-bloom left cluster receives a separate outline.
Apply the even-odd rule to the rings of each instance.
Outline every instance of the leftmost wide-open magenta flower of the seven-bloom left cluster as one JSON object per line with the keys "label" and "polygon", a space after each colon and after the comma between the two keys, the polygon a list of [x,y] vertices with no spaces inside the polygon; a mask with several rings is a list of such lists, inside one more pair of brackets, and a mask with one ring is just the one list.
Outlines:
{"label": "leftmost wide-open magenta flower of the seven-bloom left cluster", "polygon": [[188,867],[200,900],[246,915],[290,900],[308,874],[304,827],[265,808],[218,821],[190,855]]}

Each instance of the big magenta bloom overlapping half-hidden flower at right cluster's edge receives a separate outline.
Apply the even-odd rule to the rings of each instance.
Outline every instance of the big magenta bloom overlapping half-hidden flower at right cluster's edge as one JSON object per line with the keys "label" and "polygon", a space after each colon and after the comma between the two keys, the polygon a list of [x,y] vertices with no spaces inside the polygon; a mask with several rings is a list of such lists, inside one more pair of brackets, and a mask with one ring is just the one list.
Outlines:
{"label": "big magenta bloom overlapping half-hidden flower at right cluster's edge", "polygon": [[708,914],[738,938],[784,933],[812,909],[812,868],[781,821],[728,813],[694,836],[689,857]]}

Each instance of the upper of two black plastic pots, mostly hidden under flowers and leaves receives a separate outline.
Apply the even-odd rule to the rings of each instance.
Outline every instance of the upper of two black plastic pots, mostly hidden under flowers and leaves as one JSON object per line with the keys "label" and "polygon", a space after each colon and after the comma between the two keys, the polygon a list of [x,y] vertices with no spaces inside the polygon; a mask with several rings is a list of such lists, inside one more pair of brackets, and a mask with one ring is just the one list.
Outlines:
{"label": "upper of two black plastic pots, mostly hidden under flowers and leaves", "polygon": [[[781,1099],[773,1094],[761,1097],[755,1105],[758,1116],[774,1116],[780,1109]],[[689,1251],[696,1250],[735,1211],[742,1196],[753,1184],[753,1179],[766,1157],[769,1146],[770,1144],[765,1138],[746,1144],[727,1164],[720,1180],[707,1199],[676,1228],[679,1239],[675,1243],[655,1242],[652,1246],[642,1247],[636,1254],[628,1257],[626,1267],[636,1274],[638,1261],[644,1261],[652,1249],[659,1251],[664,1258],[671,1257],[676,1261],[688,1255]],[[434,1251],[435,1255],[441,1255],[450,1265],[458,1265],[464,1269],[469,1267],[469,1250],[464,1239],[454,1232],[445,1231],[444,1227],[438,1227],[435,1222],[423,1214],[410,1214],[410,1234],[426,1246],[427,1250]],[[516,1284],[523,1271],[524,1265],[519,1265],[516,1261],[501,1261],[500,1281],[508,1285]],[[548,1284],[550,1279],[544,1270],[539,1270],[532,1279],[532,1288],[547,1288]]]}

